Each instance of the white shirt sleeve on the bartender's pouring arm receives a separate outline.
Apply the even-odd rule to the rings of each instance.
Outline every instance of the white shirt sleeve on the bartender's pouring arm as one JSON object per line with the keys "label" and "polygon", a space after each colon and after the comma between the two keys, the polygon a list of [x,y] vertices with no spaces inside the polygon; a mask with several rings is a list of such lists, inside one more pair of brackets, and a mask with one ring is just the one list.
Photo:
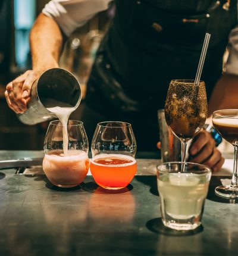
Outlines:
{"label": "white shirt sleeve on the bartender's pouring arm", "polygon": [[54,18],[65,35],[69,36],[96,13],[107,10],[109,2],[111,0],[51,0],[42,13]]}

